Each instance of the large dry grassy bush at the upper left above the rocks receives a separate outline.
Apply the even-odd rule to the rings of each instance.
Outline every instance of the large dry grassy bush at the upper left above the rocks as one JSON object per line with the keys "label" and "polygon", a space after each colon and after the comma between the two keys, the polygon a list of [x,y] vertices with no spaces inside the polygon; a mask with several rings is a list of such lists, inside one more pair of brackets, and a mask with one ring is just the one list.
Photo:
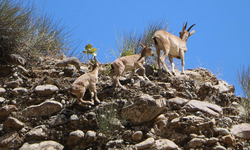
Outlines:
{"label": "large dry grassy bush at the upper left above the rocks", "polygon": [[70,32],[48,15],[38,15],[33,4],[0,0],[0,64],[6,56],[19,54],[27,60],[34,56],[53,56],[67,52]]}

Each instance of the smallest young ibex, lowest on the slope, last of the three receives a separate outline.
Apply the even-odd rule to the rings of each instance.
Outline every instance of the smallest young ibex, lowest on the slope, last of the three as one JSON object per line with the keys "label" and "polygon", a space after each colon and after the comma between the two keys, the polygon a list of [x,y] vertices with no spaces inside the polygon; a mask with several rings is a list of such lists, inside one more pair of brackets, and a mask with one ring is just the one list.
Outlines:
{"label": "smallest young ibex, lowest on the slope, last of the three", "polygon": [[[78,77],[71,85],[71,93],[77,97],[77,104],[80,106],[94,105],[93,97],[95,96],[95,102],[101,103],[97,97],[96,83],[98,82],[98,72],[103,71],[101,64],[95,59],[94,70]],[[91,94],[91,101],[83,100],[83,96],[86,90],[89,89]]]}

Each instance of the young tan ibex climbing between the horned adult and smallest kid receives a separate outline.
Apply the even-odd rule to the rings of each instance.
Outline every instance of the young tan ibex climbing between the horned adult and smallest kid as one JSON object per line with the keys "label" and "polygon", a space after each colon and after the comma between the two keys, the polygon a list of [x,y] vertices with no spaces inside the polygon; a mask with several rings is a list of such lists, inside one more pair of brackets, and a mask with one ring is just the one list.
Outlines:
{"label": "young tan ibex climbing between the horned adult and smallest kid", "polygon": [[118,85],[119,87],[126,89],[124,86],[121,85],[119,77],[126,71],[132,71],[129,77],[131,79],[134,76],[136,69],[138,68],[142,69],[143,77],[146,80],[149,80],[145,75],[145,68],[143,67],[143,63],[146,59],[146,56],[153,56],[154,54],[152,52],[151,46],[144,46],[142,43],[140,43],[140,45],[142,46],[142,51],[140,54],[118,58],[111,64],[111,77],[113,78],[114,86]]}

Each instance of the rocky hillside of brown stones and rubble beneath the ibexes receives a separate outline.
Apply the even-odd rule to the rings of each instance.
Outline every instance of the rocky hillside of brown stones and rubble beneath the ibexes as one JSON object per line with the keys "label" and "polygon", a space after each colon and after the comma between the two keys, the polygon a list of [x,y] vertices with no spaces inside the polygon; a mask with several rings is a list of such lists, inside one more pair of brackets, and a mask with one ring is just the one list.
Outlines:
{"label": "rocky hillside of brown stones and rubble beneath the ibexes", "polygon": [[148,66],[151,82],[121,79],[128,90],[103,73],[102,104],[85,108],[69,88],[88,67],[64,60],[0,66],[0,150],[250,149],[241,97],[204,68],[169,76]]}

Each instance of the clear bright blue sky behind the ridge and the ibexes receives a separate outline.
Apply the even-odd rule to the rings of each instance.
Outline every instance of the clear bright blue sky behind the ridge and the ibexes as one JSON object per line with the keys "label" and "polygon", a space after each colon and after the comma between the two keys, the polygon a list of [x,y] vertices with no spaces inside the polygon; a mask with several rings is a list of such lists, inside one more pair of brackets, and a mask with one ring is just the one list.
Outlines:
{"label": "clear bright blue sky behind the ridge and the ibexes", "polygon": [[[196,30],[187,41],[185,69],[206,68],[229,84],[235,94],[243,92],[236,72],[248,66],[250,56],[249,0],[24,0],[33,2],[39,12],[61,20],[72,30],[72,40],[80,40],[76,54],[92,44],[97,59],[113,62],[110,47],[116,46],[116,33],[142,32],[149,21],[168,20],[169,30],[179,36],[184,22]],[[177,60],[175,62],[178,62]],[[180,62],[179,62],[180,63]],[[179,68],[180,70],[181,68]]]}

